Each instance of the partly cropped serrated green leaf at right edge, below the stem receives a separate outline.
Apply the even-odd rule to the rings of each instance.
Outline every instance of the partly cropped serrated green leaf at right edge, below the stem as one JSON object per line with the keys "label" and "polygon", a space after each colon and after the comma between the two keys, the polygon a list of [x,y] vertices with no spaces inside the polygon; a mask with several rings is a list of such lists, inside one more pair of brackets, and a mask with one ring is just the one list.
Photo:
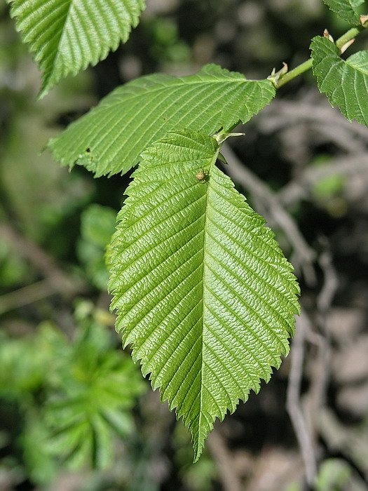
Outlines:
{"label": "partly cropped serrated green leaf at right edge, below the stem", "polygon": [[342,60],[334,43],[321,36],[312,39],[311,50],[320,91],[349,121],[357,119],[368,126],[368,51]]}

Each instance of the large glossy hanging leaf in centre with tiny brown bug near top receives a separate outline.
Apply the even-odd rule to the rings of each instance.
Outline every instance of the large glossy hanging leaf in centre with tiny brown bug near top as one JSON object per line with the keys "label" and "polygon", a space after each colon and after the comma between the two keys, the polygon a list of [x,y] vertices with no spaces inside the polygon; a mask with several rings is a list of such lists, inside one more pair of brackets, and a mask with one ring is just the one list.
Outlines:
{"label": "large glossy hanging leaf in centre with tiny brown bug near top", "polygon": [[214,419],[280,365],[299,312],[292,265],[214,165],[218,152],[193,130],[147,149],[112,242],[116,328],[189,426],[195,459]]}

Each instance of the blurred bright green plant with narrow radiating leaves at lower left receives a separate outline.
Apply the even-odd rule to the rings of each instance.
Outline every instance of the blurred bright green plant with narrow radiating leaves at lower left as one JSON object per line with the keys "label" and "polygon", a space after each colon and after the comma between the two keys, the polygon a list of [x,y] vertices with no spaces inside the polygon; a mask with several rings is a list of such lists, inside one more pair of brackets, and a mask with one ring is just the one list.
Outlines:
{"label": "blurred bright green plant with narrow radiating leaves at lower left", "polygon": [[102,469],[113,459],[114,436],[134,429],[130,411],[144,384],[130,358],[111,347],[109,332],[89,318],[85,322],[43,408],[45,450],[73,469]]}

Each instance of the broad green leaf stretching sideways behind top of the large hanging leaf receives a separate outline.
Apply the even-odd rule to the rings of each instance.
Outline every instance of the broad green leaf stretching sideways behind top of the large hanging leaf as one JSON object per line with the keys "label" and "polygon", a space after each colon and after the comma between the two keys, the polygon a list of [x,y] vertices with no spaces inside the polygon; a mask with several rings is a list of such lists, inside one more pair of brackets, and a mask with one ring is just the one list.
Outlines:
{"label": "broad green leaf stretching sideways behind top of the large hanging leaf", "polygon": [[168,130],[229,130],[274,95],[271,81],[248,81],[217,65],[190,76],[143,76],[116,88],[48,146],[64,166],[81,164],[96,177],[125,173]]}

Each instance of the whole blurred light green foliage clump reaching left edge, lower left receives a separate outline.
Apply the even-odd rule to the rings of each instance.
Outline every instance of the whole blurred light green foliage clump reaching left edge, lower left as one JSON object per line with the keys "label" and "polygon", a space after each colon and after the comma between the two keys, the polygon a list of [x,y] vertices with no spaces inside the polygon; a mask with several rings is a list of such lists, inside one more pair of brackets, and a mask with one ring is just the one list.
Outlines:
{"label": "whole blurred light green foliage clump reaching left edge, lower left", "polygon": [[32,337],[1,338],[0,396],[20,405],[25,457],[41,482],[60,463],[109,465],[115,436],[134,430],[130,410],[144,391],[137,368],[114,346],[106,314],[81,302],[75,317],[73,339],[48,322]]}

